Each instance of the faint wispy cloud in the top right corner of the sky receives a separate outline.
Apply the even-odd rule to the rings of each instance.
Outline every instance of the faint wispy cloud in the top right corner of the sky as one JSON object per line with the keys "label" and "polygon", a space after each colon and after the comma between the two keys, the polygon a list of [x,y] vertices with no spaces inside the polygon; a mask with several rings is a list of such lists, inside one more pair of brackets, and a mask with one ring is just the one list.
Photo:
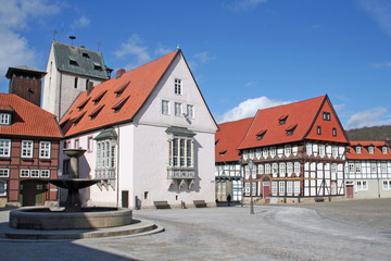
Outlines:
{"label": "faint wispy cloud in the top right corner of the sky", "polygon": [[391,37],[391,2],[383,0],[360,0],[358,7],[367,13]]}

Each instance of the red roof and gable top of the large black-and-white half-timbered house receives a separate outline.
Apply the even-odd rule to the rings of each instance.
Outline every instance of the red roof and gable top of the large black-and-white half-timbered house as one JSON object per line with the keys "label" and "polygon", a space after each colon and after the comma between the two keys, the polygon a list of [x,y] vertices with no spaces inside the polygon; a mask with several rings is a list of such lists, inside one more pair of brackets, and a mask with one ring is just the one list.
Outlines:
{"label": "red roof and gable top of the large black-and-white half-timbered house", "polygon": [[[323,120],[323,112],[330,113],[330,120]],[[317,135],[317,126],[321,135]],[[332,128],[337,136],[332,136]],[[262,138],[260,132],[266,130]],[[258,110],[249,132],[238,149],[249,149],[303,139],[346,142],[342,125],[327,96],[299,101],[290,104]]]}

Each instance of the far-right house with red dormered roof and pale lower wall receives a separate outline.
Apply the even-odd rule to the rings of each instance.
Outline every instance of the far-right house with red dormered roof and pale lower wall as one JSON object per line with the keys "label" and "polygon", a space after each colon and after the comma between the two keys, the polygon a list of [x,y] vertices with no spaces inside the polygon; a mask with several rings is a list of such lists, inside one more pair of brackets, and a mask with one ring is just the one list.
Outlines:
{"label": "far-right house with red dormered roof and pale lower wall", "polygon": [[389,145],[386,141],[351,141],[344,174],[348,198],[391,198]]}

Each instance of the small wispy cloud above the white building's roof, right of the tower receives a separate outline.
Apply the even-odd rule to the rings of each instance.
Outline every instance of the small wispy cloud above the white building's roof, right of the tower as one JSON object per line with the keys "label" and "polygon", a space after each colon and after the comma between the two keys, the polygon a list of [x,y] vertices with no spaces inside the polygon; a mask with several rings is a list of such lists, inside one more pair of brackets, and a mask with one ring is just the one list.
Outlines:
{"label": "small wispy cloud above the white building's roof, right of the tower", "polygon": [[131,70],[139,65],[142,65],[151,61],[151,55],[148,52],[148,48],[141,46],[142,41],[139,35],[135,34],[129,37],[127,42],[121,45],[121,49],[115,51],[115,55],[121,59],[136,59],[125,66],[125,69]]}

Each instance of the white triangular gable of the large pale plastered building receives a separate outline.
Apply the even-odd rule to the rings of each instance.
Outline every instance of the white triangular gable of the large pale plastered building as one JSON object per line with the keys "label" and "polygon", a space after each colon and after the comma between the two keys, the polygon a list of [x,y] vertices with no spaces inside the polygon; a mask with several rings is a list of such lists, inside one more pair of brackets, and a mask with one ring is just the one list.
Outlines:
{"label": "white triangular gable of the large pale plastered building", "polygon": [[[178,80],[180,82],[180,94],[176,94]],[[168,103],[168,113],[162,111],[163,101]],[[175,103],[181,107],[180,115],[175,114]],[[193,115],[187,115],[188,105],[192,107],[190,114]],[[134,121],[141,124],[181,126],[212,133],[217,130],[217,124],[181,52],[169,64]]]}

